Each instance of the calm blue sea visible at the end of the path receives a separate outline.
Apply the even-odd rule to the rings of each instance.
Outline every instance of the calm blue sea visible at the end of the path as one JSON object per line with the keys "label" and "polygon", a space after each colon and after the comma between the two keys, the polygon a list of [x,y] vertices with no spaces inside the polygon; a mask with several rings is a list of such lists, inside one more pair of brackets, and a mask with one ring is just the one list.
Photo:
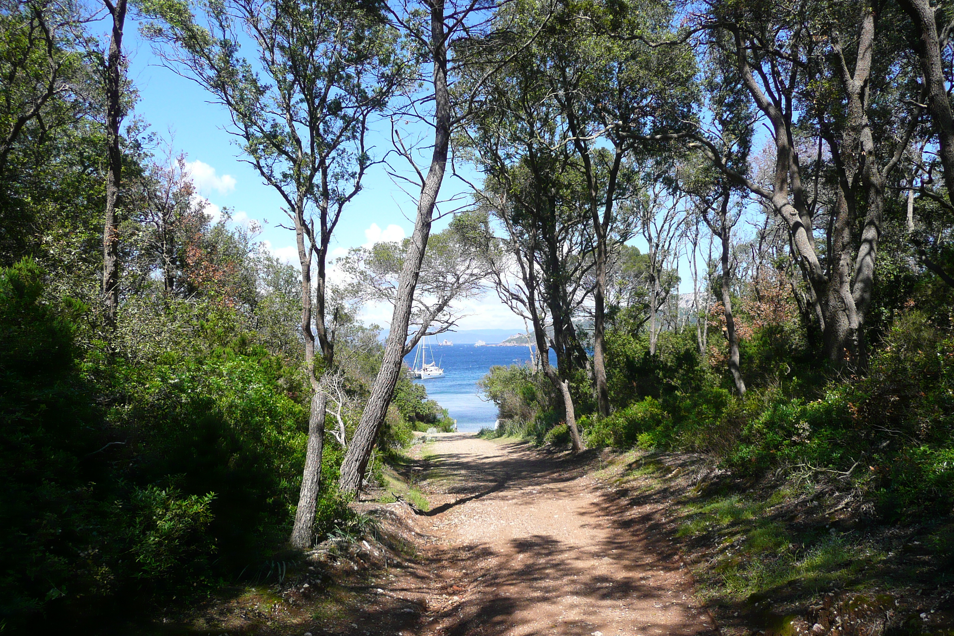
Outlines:
{"label": "calm blue sea visible at the end of the path", "polygon": [[[414,380],[424,384],[427,397],[437,400],[450,411],[450,417],[457,420],[460,431],[479,431],[484,426],[493,426],[497,421],[497,405],[487,401],[477,387],[491,366],[508,365],[529,360],[527,347],[475,347],[472,344],[456,344],[452,347],[427,347],[427,361],[430,353],[444,367],[443,378]],[[415,351],[404,359],[413,364]]]}

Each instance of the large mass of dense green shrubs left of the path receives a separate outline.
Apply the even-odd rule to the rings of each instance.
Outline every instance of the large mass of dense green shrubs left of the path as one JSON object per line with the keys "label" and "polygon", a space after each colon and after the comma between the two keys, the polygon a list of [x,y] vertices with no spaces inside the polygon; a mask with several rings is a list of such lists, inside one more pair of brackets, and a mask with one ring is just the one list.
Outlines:
{"label": "large mass of dense green shrubs left of the path", "polygon": [[31,260],[0,272],[0,619],[195,594],[280,545],[304,445],[280,360],[84,357],[84,307],[46,289]]}

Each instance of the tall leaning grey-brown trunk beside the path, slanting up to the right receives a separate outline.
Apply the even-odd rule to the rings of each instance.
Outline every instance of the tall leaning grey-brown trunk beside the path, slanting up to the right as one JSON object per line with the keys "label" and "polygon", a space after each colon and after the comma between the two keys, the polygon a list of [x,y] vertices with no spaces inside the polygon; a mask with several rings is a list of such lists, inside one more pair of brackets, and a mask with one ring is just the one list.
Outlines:
{"label": "tall leaning grey-brown trunk beside the path, slanting up to the right", "polygon": [[394,314],[391,317],[390,332],[384,345],[381,371],[374,380],[371,396],[364,406],[358,429],[344,454],[339,487],[346,495],[357,495],[361,489],[371,450],[384,424],[384,416],[387,414],[394,387],[401,376],[414,290],[417,286],[421,263],[424,260],[427,238],[430,236],[434,205],[437,202],[446,170],[447,149],[450,144],[450,95],[447,92],[447,44],[443,0],[435,0],[431,5],[430,29],[430,46],[434,56],[434,149],[418,201],[414,233],[407,248],[404,268],[398,282]]}

